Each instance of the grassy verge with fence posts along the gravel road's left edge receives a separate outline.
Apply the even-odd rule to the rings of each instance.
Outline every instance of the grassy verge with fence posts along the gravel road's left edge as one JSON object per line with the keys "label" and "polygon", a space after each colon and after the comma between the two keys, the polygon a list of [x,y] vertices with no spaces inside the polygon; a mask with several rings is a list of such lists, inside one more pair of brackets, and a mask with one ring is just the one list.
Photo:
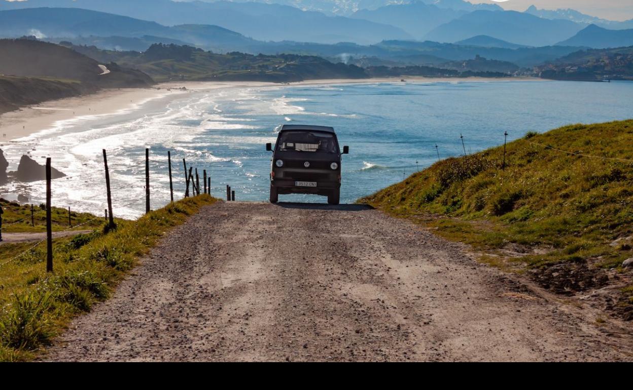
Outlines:
{"label": "grassy verge with fence posts along the gravel road's left edge", "polygon": [[166,231],[215,201],[209,195],[187,198],[137,221],[118,221],[118,228],[108,233],[100,226],[87,235],[56,240],[55,271],[50,274],[44,245],[8,264],[32,243],[10,250],[0,246],[0,361],[34,358],[75,315],[106,299]]}

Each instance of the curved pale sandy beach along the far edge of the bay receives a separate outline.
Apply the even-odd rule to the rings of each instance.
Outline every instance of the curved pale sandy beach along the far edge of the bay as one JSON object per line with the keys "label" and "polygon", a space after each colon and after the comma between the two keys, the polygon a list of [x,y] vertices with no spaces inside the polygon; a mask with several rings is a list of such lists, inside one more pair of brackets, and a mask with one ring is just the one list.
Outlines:
{"label": "curved pale sandy beach along the far edge of the bay", "polygon": [[[412,76],[403,78],[411,83],[438,82],[525,82],[547,81],[541,78],[512,77],[512,78],[425,78]],[[168,95],[185,94],[200,90],[239,87],[286,87],[297,85],[342,85],[342,84],[371,84],[371,83],[401,83],[401,78],[360,78],[360,79],[323,79],[305,80],[293,83],[271,82],[165,82],[151,88],[120,88],[105,89],[96,94],[68,97],[51,100],[22,107],[15,111],[0,114],[0,144],[14,142],[28,137],[39,131],[54,128],[60,121],[78,119],[82,117],[115,114],[126,109],[134,109],[148,101],[160,99]],[[186,90],[180,88],[185,87]],[[0,145],[1,147],[1,145]]]}

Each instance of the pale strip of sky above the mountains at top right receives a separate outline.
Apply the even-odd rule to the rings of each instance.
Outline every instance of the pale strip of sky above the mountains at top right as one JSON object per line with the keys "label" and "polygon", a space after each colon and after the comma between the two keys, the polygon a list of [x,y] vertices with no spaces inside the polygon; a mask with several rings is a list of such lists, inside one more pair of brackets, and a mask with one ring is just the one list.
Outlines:
{"label": "pale strip of sky above the mountains at top right", "polygon": [[573,8],[587,15],[609,20],[633,19],[633,0],[470,0],[471,3],[496,3],[505,9],[525,11],[534,4],[536,8]]}

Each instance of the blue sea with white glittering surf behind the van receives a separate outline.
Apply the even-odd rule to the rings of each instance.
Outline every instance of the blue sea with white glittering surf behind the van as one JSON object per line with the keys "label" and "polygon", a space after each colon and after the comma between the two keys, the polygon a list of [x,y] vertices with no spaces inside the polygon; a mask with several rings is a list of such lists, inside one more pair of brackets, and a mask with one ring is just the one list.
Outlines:
{"label": "blue sea with white glittering surf behind the van", "polygon": [[[116,217],[144,212],[145,148],[151,149],[151,206],[169,202],[167,151],[175,197],[184,195],[182,158],[211,176],[212,195],[232,186],[237,200],[268,199],[275,127],[333,126],[343,156],[341,202],[354,202],[433,164],[502,145],[527,131],[633,117],[632,82],[449,80],[340,85],[230,87],[170,95],[112,114],[61,121],[2,147],[15,170],[22,154],[68,178],[53,181],[53,204],[102,215],[106,208],[102,149],[108,150]],[[463,136],[463,138],[461,138]],[[462,143],[463,141],[463,143]],[[437,148],[436,148],[437,145]],[[44,183],[11,184],[3,194],[44,201]],[[327,202],[280,195],[282,202]]]}

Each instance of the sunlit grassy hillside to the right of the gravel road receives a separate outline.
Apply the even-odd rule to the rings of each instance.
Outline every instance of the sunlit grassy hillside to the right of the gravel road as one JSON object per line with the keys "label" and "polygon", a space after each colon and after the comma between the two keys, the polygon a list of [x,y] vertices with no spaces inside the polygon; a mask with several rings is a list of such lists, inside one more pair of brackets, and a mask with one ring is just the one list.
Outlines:
{"label": "sunlit grassy hillside to the right of the gravel road", "polygon": [[506,161],[503,146],[446,159],[361,201],[557,293],[620,286],[606,307],[633,319],[633,121],[528,133]]}

